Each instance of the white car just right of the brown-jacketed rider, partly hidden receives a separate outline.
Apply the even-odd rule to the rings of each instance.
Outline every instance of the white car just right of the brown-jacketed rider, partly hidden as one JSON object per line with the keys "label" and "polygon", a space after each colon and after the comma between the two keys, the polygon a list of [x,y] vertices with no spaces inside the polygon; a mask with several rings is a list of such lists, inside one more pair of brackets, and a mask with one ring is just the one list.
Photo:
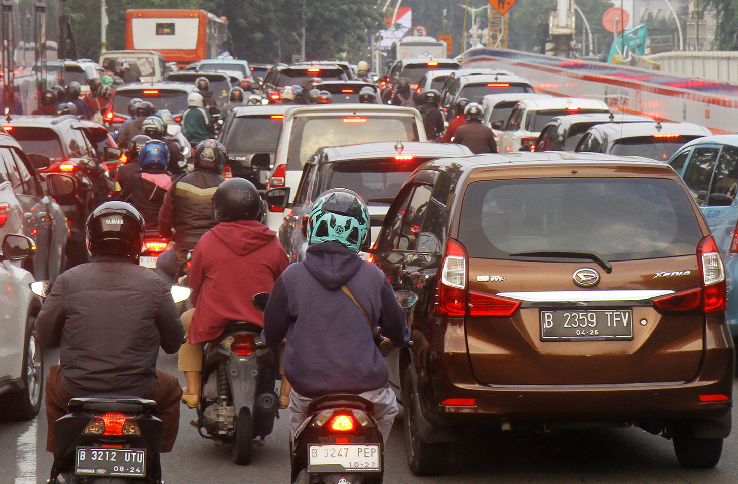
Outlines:
{"label": "white car just right of the brown-jacketed rider, partly hidden", "polygon": [[547,97],[521,100],[515,105],[497,141],[497,151],[509,153],[536,144],[543,127],[555,116],[609,113],[600,100],[583,97]]}

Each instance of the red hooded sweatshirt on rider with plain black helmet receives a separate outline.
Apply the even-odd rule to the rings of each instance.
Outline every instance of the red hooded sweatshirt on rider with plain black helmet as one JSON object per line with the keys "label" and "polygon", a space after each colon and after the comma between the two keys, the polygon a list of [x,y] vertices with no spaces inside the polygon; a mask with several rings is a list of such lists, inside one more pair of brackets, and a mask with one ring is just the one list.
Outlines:
{"label": "red hooded sweatshirt on rider with plain black helmet", "polygon": [[289,265],[276,235],[257,221],[221,222],[204,233],[190,266],[190,300],[196,302],[190,343],[217,338],[232,321],[263,328],[251,298],[271,292]]}

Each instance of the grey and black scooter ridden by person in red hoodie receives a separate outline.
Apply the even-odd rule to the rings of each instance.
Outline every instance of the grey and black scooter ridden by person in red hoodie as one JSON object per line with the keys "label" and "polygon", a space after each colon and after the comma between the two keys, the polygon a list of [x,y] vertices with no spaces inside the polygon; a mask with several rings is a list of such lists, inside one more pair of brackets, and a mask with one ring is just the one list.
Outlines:
{"label": "grey and black scooter ridden by person in red hoodie", "polygon": [[261,328],[231,322],[220,338],[204,345],[197,427],[216,445],[230,443],[232,460],[251,463],[254,439],[272,433],[278,417],[275,353],[257,348]]}

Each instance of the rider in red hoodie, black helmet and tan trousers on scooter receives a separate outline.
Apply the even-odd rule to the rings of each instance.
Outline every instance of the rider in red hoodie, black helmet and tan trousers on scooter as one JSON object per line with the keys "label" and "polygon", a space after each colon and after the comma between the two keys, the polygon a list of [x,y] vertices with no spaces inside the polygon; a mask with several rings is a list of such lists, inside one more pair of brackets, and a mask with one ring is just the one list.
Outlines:
{"label": "rider in red hoodie, black helmet and tan trousers on scooter", "polygon": [[202,343],[218,338],[232,321],[263,328],[263,315],[251,298],[271,292],[289,265],[277,234],[257,221],[261,198],[251,182],[221,183],[213,212],[218,224],[205,232],[192,255],[188,285],[195,308],[182,314],[188,336],[179,351],[179,370],[187,381],[182,400],[188,407],[199,400]]}

